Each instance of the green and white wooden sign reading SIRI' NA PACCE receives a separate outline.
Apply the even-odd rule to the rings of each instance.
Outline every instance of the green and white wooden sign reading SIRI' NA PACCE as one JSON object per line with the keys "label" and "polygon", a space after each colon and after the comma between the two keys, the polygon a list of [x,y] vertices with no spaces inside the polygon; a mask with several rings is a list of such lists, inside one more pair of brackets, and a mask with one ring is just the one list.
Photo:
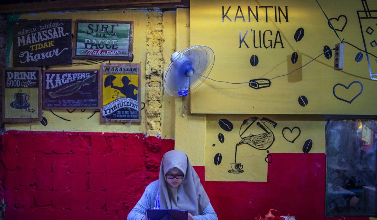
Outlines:
{"label": "green and white wooden sign reading SIRI' NA PACCE", "polygon": [[132,60],[133,22],[76,20],[74,58]]}

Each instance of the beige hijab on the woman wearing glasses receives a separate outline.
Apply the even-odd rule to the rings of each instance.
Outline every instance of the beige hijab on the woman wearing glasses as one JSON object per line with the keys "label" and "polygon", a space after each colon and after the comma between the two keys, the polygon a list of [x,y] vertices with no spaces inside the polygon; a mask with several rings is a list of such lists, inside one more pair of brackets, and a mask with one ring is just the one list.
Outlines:
{"label": "beige hijab on the woman wearing glasses", "polygon": [[[184,174],[178,187],[170,186],[165,177],[165,174],[175,167]],[[158,192],[161,209],[187,209],[192,215],[201,215],[210,202],[198,174],[182,151],[169,151],[162,157]]]}

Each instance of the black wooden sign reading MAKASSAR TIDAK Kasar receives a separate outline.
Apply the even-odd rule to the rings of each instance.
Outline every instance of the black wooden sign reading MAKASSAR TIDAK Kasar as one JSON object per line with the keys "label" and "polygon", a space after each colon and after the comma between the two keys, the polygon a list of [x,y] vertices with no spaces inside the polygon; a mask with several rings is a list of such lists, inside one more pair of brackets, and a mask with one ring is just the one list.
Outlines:
{"label": "black wooden sign reading MAKASSAR TIDAK Kasar", "polygon": [[13,66],[72,65],[72,20],[13,22]]}

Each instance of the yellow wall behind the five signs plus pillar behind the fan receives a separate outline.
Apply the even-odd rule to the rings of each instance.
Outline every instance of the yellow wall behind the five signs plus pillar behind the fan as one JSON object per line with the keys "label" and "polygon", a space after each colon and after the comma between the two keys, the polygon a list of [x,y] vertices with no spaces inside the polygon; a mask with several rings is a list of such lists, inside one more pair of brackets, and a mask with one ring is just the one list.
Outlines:
{"label": "yellow wall behind the five signs plus pillar behind the fan", "polygon": [[[178,50],[187,48],[190,44],[190,20],[189,9],[177,9],[177,11],[147,11],[147,10],[126,10],[126,11],[90,11],[90,12],[67,12],[67,13],[38,13],[24,14],[20,19],[72,19],[72,31],[74,31],[74,22],[76,19],[93,19],[93,20],[127,20],[134,22],[134,45],[133,63],[141,63],[142,83],[141,102],[146,103],[146,98],[153,101],[154,93],[148,93],[152,89],[148,88],[150,84],[161,86],[162,77],[150,77],[150,72],[146,73],[146,66],[150,68],[161,68],[159,73],[163,74],[170,62],[170,55]],[[161,23],[159,22],[161,21]],[[151,29],[162,26],[162,36],[151,34]],[[159,40],[158,37],[162,37]],[[161,52],[154,51],[156,44],[161,43]],[[147,46],[154,44],[153,48]],[[162,58],[156,58],[154,53],[162,55]],[[11,56],[10,56],[11,57]],[[162,59],[162,61],[161,61]],[[111,61],[113,62],[113,61]],[[122,62],[116,60],[114,62]],[[128,61],[125,61],[126,63]],[[160,66],[159,66],[160,65]],[[100,64],[88,66],[52,66],[52,69],[100,69]],[[146,77],[147,75],[147,77]],[[150,78],[152,81],[150,80]],[[161,87],[162,88],[162,87]],[[159,95],[159,94],[157,94]],[[48,125],[44,126],[40,122],[7,124],[9,130],[30,130],[30,131],[88,131],[88,132],[121,132],[121,133],[147,133],[149,135],[161,135],[162,138],[175,138],[176,149],[186,152],[192,164],[195,166],[204,165],[205,156],[205,115],[191,115],[190,109],[186,109],[185,117],[182,116],[182,107],[186,105],[190,108],[189,96],[185,98],[175,98],[162,92],[162,100],[157,102],[161,105],[161,121],[155,122],[154,116],[150,117],[150,122],[156,129],[150,129],[146,120],[146,109],[142,110],[141,123],[114,123],[99,122],[99,113],[90,110],[75,110],[67,112],[66,110],[43,109],[42,116],[46,118]],[[147,104],[148,105],[148,104]],[[151,111],[154,106],[150,106]],[[147,108],[147,106],[146,106]],[[72,110],[70,110],[72,111]],[[64,118],[64,119],[62,119]],[[159,128],[158,128],[159,127]],[[161,129],[160,131],[158,129]],[[150,133],[148,133],[150,132]],[[195,138],[193,138],[195,137]]]}

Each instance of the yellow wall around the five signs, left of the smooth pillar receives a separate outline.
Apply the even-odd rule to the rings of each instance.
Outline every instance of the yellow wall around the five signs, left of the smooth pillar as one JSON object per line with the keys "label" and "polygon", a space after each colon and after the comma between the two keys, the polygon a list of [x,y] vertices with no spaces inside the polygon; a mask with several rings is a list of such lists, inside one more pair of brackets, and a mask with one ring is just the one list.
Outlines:
{"label": "yellow wall around the five signs, left of the smooth pillar", "polygon": [[[11,15],[17,19],[18,15]],[[146,108],[141,110],[140,123],[115,123],[100,122],[99,112],[96,109],[78,110],[47,110],[43,109],[42,116],[47,120],[44,126],[41,122],[7,124],[8,130],[31,131],[90,131],[90,132],[121,132],[121,133],[147,133],[148,135],[161,135],[163,138],[173,138],[173,117],[167,117],[173,112],[171,97],[164,95],[162,101],[169,109],[161,111],[161,100],[156,97],[162,95],[162,73],[165,60],[170,61],[170,55],[175,47],[175,20],[176,12],[159,10],[119,10],[119,11],[80,11],[60,13],[33,13],[22,14],[19,19],[72,19],[72,33],[74,33],[75,20],[120,20],[133,21],[133,63],[141,63],[141,102],[146,103]],[[162,21],[162,22],[159,22]],[[11,34],[11,33],[9,33]],[[154,43],[159,45],[153,45]],[[149,45],[149,46],[148,46]],[[12,58],[12,54],[9,55]],[[74,60],[75,61],[75,60]],[[112,63],[128,61],[110,60]],[[11,63],[12,65],[12,63]],[[10,66],[11,67],[11,66]],[[100,63],[80,66],[51,66],[51,69],[100,69]],[[153,71],[159,75],[151,74]],[[151,87],[151,88],[150,88]],[[152,88],[153,87],[153,88]],[[157,88],[157,89],[156,89]],[[148,92],[146,92],[148,91]],[[159,103],[154,106],[153,103]],[[170,107],[169,107],[170,105]],[[142,105],[143,107],[144,105]],[[159,108],[159,109],[158,109]],[[146,109],[149,109],[146,115]],[[73,111],[73,112],[72,112]],[[168,113],[170,112],[170,113]]]}

